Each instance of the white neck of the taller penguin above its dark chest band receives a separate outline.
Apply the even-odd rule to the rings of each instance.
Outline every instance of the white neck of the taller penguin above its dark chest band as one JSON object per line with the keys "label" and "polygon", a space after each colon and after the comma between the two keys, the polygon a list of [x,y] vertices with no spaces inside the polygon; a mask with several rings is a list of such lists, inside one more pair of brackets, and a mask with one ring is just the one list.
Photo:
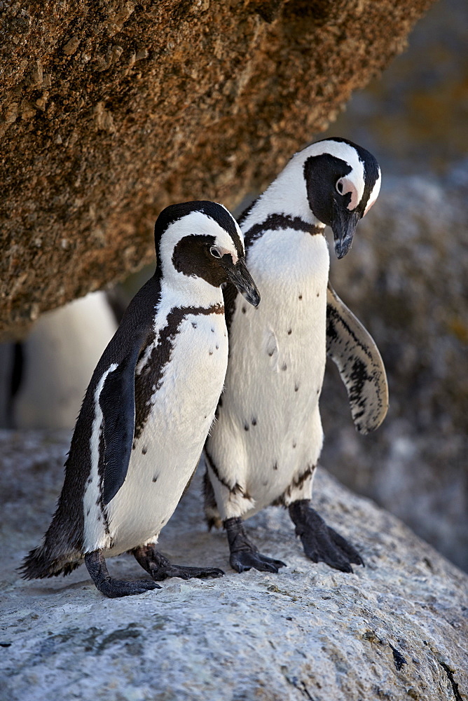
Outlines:
{"label": "white neck of the taller penguin above its dark chest band", "polygon": [[256,201],[252,210],[242,221],[242,231],[247,231],[253,224],[265,221],[273,214],[299,218],[305,224],[324,229],[310,209],[307,186],[304,177],[304,160],[302,153],[296,154],[280,175],[273,180],[266,191]]}

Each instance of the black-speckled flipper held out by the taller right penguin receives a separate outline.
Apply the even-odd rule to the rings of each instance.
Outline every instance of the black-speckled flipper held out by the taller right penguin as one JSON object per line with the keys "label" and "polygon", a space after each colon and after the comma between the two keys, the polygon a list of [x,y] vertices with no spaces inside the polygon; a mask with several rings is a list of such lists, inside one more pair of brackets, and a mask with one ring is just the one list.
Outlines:
{"label": "black-speckled flipper held out by the taller right penguin", "polygon": [[376,430],[388,409],[383,360],[371,334],[331,285],[326,290],[326,355],[338,367],[357,430]]}

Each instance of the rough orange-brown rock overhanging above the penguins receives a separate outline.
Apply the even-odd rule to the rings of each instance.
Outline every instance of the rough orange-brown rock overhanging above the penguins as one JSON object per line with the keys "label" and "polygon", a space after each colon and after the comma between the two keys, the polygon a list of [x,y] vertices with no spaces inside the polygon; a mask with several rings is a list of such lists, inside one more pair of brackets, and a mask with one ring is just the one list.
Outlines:
{"label": "rough orange-brown rock overhanging above the penguins", "polygon": [[398,53],[431,0],[0,2],[1,330],[233,207]]}

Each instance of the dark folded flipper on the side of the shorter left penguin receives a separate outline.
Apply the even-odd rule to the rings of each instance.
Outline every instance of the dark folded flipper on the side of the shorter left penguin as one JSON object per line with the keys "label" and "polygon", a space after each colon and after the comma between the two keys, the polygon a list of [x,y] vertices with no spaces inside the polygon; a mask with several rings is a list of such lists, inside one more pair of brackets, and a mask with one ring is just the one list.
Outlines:
{"label": "dark folded flipper on the side of the shorter left penguin", "polygon": [[109,372],[99,395],[104,439],[103,499],[108,504],[125,482],[135,433],[135,367],[139,347]]}

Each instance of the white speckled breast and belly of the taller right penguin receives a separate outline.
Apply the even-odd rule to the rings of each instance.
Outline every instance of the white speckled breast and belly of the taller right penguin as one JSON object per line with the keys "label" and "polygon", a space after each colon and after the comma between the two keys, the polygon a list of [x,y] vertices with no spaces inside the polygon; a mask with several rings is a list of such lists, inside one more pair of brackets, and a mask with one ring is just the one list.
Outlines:
{"label": "white speckled breast and belly of the taller right penguin", "polygon": [[221,475],[245,485],[252,513],[280,496],[302,465],[315,464],[322,448],[329,252],[321,234],[270,231],[247,261],[261,304],[237,299],[208,451]]}

